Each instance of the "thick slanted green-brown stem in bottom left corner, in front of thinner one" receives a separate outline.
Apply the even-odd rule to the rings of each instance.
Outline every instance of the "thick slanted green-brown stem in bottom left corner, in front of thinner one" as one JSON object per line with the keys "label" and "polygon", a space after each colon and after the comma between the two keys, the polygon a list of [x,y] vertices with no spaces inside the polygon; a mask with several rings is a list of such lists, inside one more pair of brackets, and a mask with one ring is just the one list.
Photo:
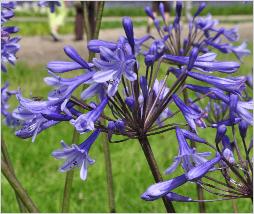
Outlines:
{"label": "thick slanted green-brown stem in bottom left corner, in front of thinner one", "polygon": [[7,166],[4,160],[1,160],[1,170],[4,176],[6,177],[6,179],[8,180],[9,184],[18,194],[22,203],[26,206],[27,210],[32,213],[38,213],[39,212],[38,208],[35,206],[31,198],[27,194],[26,190],[23,188],[21,183],[18,181],[16,176],[12,173],[12,171]]}

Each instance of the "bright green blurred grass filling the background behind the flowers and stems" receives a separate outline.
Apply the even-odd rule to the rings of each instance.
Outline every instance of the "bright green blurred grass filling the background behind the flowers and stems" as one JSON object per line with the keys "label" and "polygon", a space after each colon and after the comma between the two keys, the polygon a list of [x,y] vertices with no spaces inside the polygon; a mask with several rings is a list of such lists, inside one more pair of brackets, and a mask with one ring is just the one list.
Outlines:
{"label": "bright green blurred grass filling the background behind the flowers and stems", "polygon": [[[106,11],[107,10],[105,10],[105,14],[109,13]],[[115,12],[117,13],[113,14],[115,16],[122,16],[126,13],[123,12],[125,11],[124,9],[112,11],[120,11],[119,14]],[[128,14],[129,16],[135,16],[135,12],[133,11],[136,10],[128,11],[133,13]],[[222,9],[222,11],[224,11],[224,9]],[[245,10],[245,12],[246,11],[247,10]],[[215,12],[216,15],[217,11],[214,10],[212,13],[213,12]],[[225,15],[227,15],[227,13],[225,12]],[[139,14],[142,16],[142,13]],[[24,16],[24,14],[21,15]],[[121,26],[120,22],[112,21],[109,23],[111,23],[111,28],[118,28]],[[137,27],[137,23],[134,22],[134,25]],[[145,23],[142,25],[145,25]],[[37,30],[40,29],[39,32],[45,32],[47,23],[44,25],[42,22],[41,25],[32,27],[33,25],[28,26],[25,22],[19,22],[18,26],[23,32],[29,32],[27,35],[38,35]],[[71,27],[71,23],[67,24],[65,29],[66,33],[72,32]],[[252,50],[253,43],[248,43],[248,47]],[[232,61],[235,60],[235,57],[232,54],[226,56],[219,54],[218,59]],[[247,75],[251,72],[253,64],[252,54],[245,57],[243,61],[244,63],[241,64],[241,68],[239,72],[237,72],[237,75]],[[161,68],[161,73],[165,72],[166,69],[167,66],[164,65]],[[38,64],[36,66],[30,66],[27,62],[18,61],[15,66],[8,66],[8,73],[2,75],[2,84],[8,80],[10,82],[10,89],[21,87],[25,97],[43,96],[46,98],[47,93],[51,90],[51,88],[43,82],[43,78],[46,76],[48,76],[48,74],[45,65]],[[170,82],[172,82],[172,80],[169,80],[169,85]],[[194,81],[190,82],[193,83]],[[11,107],[14,108],[16,104],[15,99],[12,99]],[[171,110],[174,111],[176,108],[173,107]],[[178,115],[174,118],[174,121],[184,122],[184,119]],[[61,209],[65,174],[57,171],[62,162],[55,160],[51,156],[51,152],[60,147],[59,142],[62,139],[68,144],[71,143],[73,127],[68,123],[59,124],[39,134],[35,143],[32,143],[31,139],[19,139],[14,136],[13,132],[14,130],[6,127],[2,123],[2,134],[7,144],[17,177],[31,198],[38,205],[41,212],[59,212]],[[198,129],[198,132],[201,137],[203,136],[210,140],[210,142],[213,142],[215,137],[214,130],[209,129],[209,131],[204,131]],[[87,136],[87,134],[81,135],[79,142],[82,142]],[[252,132],[249,130],[248,143],[250,142],[251,136]],[[160,171],[163,172],[171,164],[172,158],[178,153],[175,133],[167,132],[159,136],[152,136],[149,137],[149,140],[158,161]],[[197,148],[198,151],[206,151],[206,147],[203,145],[197,145]],[[110,152],[114,177],[116,211],[165,212],[161,200],[145,202],[140,199],[140,195],[149,185],[153,184],[154,181],[139,143],[136,140],[129,140],[120,144],[110,144]],[[88,168],[88,178],[85,182],[79,178],[79,169],[75,170],[70,212],[108,212],[105,163],[101,138],[92,146],[90,156],[96,160],[96,163]],[[171,179],[181,173],[182,171],[179,169],[175,173],[167,176],[163,175],[163,177],[164,179]],[[4,176],[1,178],[1,211],[4,213],[19,212],[15,194]],[[217,178],[220,179],[219,177]],[[195,199],[197,198],[194,184],[184,185],[178,188],[176,192]],[[206,199],[214,198],[214,196],[207,193],[205,197]],[[174,202],[174,206],[177,212],[198,212],[198,204],[196,203]],[[249,199],[237,200],[237,206],[239,212],[252,212],[252,203]],[[207,212],[233,212],[231,201],[206,203],[206,207]]]}

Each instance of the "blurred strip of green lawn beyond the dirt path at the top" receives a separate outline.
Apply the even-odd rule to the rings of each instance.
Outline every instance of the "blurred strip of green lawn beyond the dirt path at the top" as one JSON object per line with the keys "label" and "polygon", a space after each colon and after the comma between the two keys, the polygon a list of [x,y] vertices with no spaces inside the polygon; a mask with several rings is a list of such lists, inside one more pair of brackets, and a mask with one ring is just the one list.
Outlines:
{"label": "blurred strip of green lawn beyond the dirt path at the top", "polygon": [[[207,2],[207,7],[201,12],[200,15],[206,15],[211,13],[213,16],[220,16],[222,23],[234,23],[252,21],[252,3],[251,2],[234,2],[234,4],[226,4],[226,6],[219,6]],[[197,5],[195,4],[191,8],[191,13],[194,14]],[[16,11],[15,17],[8,22],[9,25],[17,25],[20,27],[19,35],[21,36],[32,36],[32,35],[47,35],[49,32],[47,13],[42,8],[38,11],[38,7],[33,7],[29,10]],[[46,9],[45,9],[46,10]],[[43,12],[44,11],[44,12]],[[171,10],[171,16],[175,15],[175,11]],[[183,10],[183,16],[185,10]],[[243,19],[228,19],[228,16],[243,16]],[[73,7],[68,9],[66,23],[60,27],[60,34],[68,34],[74,31],[73,20],[75,16],[75,9]],[[147,18],[144,8],[140,5],[130,6],[111,6],[105,7],[103,11],[103,19],[101,29],[114,29],[122,26],[121,22],[118,21],[120,17],[130,16],[133,18],[134,25],[136,27],[146,26]],[[31,19],[33,17],[33,19]],[[36,19],[34,19],[36,17]],[[24,21],[25,18],[25,21]],[[28,19],[27,19],[28,18]],[[183,19],[184,20],[184,19]],[[29,24],[29,27],[26,25]]]}

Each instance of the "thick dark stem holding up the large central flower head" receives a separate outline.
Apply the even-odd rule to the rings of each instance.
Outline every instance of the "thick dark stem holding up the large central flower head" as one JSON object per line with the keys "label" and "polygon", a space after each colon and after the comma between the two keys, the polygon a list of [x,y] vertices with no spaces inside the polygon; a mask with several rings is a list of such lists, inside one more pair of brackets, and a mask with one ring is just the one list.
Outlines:
{"label": "thick dark stem holding up the large central flower head", "polygon": [[[147,163],[148,163],[150,170],[153,174],[155,182],[158,183],[158,182],[163,181],[162,176],[159,171],[159,167],[158,167],[157,162],[154,158],[153,151],[152,151],[152,148],[149,144],[147,137],[139,138],[139,142],[140,142],[142,150],[145,154]],[[175,213],[175,209],[174,209],[174,206],[171,203],[171,201],[169,201],[166,197],[162,197],[162,200],[163,200],[163,203],[165,205],[167,212],[168,213]]]}

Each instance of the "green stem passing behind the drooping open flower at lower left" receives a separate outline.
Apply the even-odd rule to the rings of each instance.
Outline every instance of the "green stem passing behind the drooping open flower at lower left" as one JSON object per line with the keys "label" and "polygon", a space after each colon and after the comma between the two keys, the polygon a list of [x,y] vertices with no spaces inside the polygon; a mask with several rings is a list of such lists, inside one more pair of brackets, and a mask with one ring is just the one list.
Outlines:
{"label": "green stem passing behind the drooping open flower at lower left", "polygon": [[[79,133],[74,129],[72,144],[77,144],[78,140],[79,140]],[[73,175],[74,175],[74,170],[70,170],[66,173],[64,195],[63,195],[63,201],[62,201],[62,210],[61,210],[62,213],[69,212]]]}

